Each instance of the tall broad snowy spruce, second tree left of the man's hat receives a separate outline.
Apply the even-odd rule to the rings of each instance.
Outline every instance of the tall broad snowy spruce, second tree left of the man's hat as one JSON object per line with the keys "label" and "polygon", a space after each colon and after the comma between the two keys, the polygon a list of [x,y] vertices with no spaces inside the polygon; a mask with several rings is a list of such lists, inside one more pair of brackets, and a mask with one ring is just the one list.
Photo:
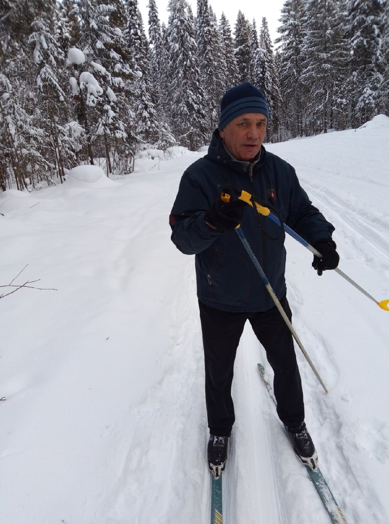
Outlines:
{"label": "tall broad snowy spruce, second tree left of the man's hat", "polygon": [[196,151],[210,140],[201,87],[195,23],[186,0],[169,1],[167,39],[170,122],[182,146]]}

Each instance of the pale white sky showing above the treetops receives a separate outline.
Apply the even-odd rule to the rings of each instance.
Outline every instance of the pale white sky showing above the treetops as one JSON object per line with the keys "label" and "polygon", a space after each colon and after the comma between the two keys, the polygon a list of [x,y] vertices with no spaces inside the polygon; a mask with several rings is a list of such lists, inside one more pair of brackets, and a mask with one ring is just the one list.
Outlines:
{"label": "pale white sky showing above the treetops", "polygon": [[[188,0],[189,4],[192,7],[193,13],[197,12],[197,2],[196,0]],[[267,18],[267,23],[269,26],[270,36],[272,41],[278,36],[277,28],[279,27],[279,17],[280,10],[284,5],[284,0],[272,0],[271,2],[253,2],[252,0],[240,0],[240,2],[225,2],[225,0],[210,0],[209,4],[211,5],[213,11],[216,14],[217,19],[220,19],[221,14],[224,12],[225,16],[228,18],[231,30],[234,30],[236,17],[239,10],[245,15],[245,17],[253,21],[255,18],[256,26],[259,31],[262,18],[265,16]],[[138,0],[139,10],[141,11],[143,23],[145,29],[148,29],[148,0]],[[158,15],[161,22],[167,23],[169,13],[167,11],[168,0],[157,0]]]}

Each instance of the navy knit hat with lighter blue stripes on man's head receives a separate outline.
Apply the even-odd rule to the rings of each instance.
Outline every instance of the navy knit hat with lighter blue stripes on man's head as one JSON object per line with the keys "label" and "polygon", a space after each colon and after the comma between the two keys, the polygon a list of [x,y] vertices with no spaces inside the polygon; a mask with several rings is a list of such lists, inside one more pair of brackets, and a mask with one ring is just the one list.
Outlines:
{"label": "navy knit hat with lighter blue stripes on man's head", "polygon": [[219,129],[245,113],[261,113],[269,119],[265,97],[253,84],[245,82],[229,89],[220,103]]}

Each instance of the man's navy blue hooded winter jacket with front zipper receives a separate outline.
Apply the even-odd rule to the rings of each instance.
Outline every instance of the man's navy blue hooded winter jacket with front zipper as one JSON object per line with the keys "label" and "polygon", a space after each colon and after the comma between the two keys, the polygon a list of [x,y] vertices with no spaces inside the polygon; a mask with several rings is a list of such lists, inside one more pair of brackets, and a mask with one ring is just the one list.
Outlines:
{"label": "man's navy blue hooded winter jacket with front zipper", "polygon": [[[224,149],[218,130],[214,132],[208,154],[183,173],[170,215],[171,239],[182,253],[196,255],[201,302],[223,311],[266,311],[274,302],[238,235],[219,233],[204,222],[224,184],[268,202],[310,244],[331,238],[334,227],[312,205],[287,162],[263,146],[257,162],[236,161]],[[244,211],[241,227],[277,298],[282,298],[286,250],[281,228],[251,206]]]}

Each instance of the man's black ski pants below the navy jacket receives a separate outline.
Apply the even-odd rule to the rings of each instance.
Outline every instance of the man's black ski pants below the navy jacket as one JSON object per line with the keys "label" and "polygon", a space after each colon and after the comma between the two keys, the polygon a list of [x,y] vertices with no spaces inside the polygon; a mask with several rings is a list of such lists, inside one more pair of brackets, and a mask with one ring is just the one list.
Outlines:
{"label": "man's black ski pants below the navy jacket", "polygon": [[[291,311],[284,296],[282,304],[289,320]],[[199,301],[206,371],[206,405],[210,433],[230,436],[235,421],[231,385],[237,346],[248,320],[263,345],[274,370],[277,413],[288,428],[304,421],[304,399],[293,337],[276,307],[268,311],[235,313],[210,308]],[[249,401],[249,399],[247,399]]]}

